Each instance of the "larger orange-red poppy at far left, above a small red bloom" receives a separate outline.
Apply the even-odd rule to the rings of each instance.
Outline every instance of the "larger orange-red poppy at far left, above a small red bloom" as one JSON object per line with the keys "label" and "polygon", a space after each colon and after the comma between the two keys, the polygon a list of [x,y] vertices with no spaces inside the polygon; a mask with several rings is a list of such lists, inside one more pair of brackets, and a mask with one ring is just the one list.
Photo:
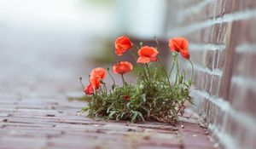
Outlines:
{"label": "larger orange-red poppy at far left, above a small red bloom", "polygon": [[97,67],[90,72],[90,84],[93,89],[100,88],[100,79],[104,79],[106,77],[106,71],[104,68]]}

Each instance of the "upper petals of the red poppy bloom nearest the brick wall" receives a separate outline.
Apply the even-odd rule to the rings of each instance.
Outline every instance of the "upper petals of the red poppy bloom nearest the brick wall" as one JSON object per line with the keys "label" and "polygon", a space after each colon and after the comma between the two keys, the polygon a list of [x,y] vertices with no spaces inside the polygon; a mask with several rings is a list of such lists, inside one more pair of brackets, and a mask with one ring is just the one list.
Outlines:
{"label": "upper petals of the red poppy bloom nearest the brick wall", "polygon": [[188,50],[189,41],[185,37],[173,37],[169,40],[169,47],[172,52]]}

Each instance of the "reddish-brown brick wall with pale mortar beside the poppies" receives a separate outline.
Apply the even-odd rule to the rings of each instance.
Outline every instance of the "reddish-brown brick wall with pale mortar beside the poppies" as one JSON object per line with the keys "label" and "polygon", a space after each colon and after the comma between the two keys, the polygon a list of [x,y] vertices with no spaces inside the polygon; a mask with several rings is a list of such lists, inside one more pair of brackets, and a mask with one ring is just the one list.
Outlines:
{"label": "reddish-brown brick wall with pale mortar beside the poppies", "polygon": [[255,149],[256,0],[170,0],[166,16],[167,38],[189,38],[191,95],[212,137],[224,148]]}

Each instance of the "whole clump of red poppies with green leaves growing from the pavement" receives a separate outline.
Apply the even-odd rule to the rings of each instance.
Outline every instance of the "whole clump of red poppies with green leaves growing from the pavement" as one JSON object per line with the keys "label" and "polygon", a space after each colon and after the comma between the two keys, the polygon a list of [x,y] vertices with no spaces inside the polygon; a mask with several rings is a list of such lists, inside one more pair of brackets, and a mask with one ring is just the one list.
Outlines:
{"label": "whole clump of red poppies with green leaves growing from the pavement", "polygon": [[[157,41],[156,41],[157,43]],[[134,46],[139,54],[137,67],[139,72],[136,83],[125,82],[124,74],[131,72],[133,66],[127,61],[120,61],[113,66],[113,72],[119,74],[123,85],[118,86],[113,80],[112,89],[108,91],[104,78],[110,77],[109,68],[96,68],[90,73],[89,85],[84,88],[85,100],[89,103],[80,112],[88,112],[92,118],[112,120],[128,120],[131,123],[144,120],[156,120],[165,123],[177,123],[178,116],[183,115],[185,101],[193,104],[189,95],[193,79],[193,64],[189,60],[188,41],[183,37],[172,38],[169,41],[172,50],[172,68],[168,73],[157,57],[157,48]],[[128,37],[119,37],[115,42],[116,54],[121,56],[133,47]],[[132,50],[129,50],[132,53]],[[133,51],[134,52],[134,51]],[[136,51],[135,51],[136,52]],[[185,71],[180,71],[178,53],[192,66],[192,76],[186,77]],[[136,58],[135,54],[133,53]],[[173,72],[175,70],[175,72]],[[175,76],[175,82],[170,77]],[[113,79],[113,77],[112,77]]]}

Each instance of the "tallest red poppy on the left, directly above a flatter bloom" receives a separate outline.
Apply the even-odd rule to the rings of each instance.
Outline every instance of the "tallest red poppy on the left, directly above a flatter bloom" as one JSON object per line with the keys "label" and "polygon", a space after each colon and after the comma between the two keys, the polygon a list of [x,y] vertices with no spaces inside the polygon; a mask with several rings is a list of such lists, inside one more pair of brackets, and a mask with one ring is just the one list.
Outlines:
{"label": "tallest red poppy on the left, directly above a flatter bloom", "polygon": [[128,49],[132,47],[129,37],[121,36],[115,40],[115,54],[119,56],[124,54]]}

